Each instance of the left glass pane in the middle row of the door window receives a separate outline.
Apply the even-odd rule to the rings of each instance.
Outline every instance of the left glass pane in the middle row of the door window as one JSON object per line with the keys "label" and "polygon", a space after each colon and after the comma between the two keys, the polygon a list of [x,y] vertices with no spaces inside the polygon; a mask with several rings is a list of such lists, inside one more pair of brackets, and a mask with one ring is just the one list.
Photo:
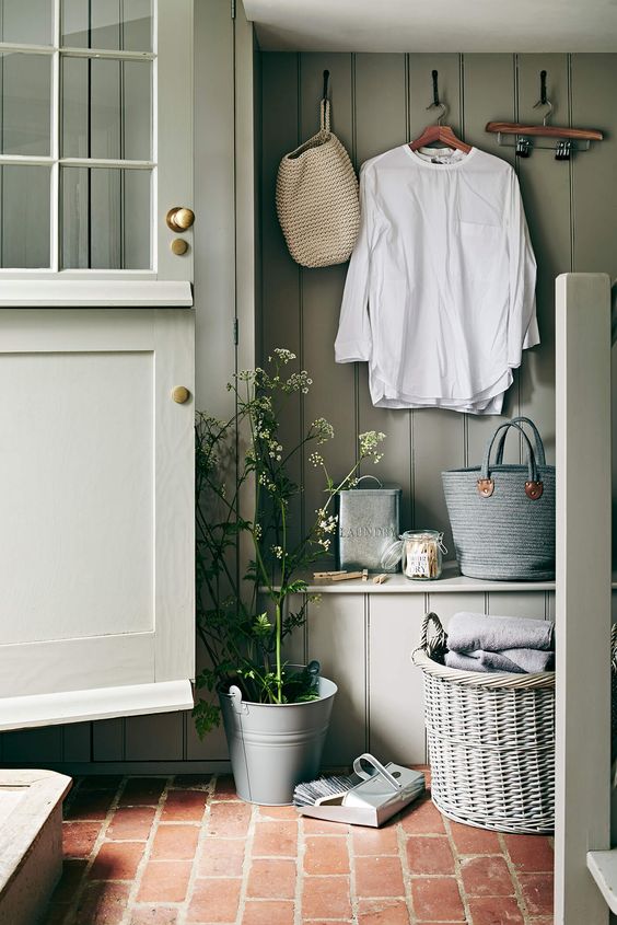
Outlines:
{"label": "left glass pane in the middle row of the door window", "polygon": [[0,153],[49,155],[51,58],[0,54]]}

